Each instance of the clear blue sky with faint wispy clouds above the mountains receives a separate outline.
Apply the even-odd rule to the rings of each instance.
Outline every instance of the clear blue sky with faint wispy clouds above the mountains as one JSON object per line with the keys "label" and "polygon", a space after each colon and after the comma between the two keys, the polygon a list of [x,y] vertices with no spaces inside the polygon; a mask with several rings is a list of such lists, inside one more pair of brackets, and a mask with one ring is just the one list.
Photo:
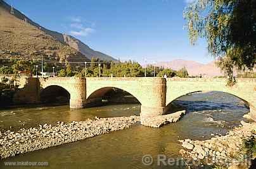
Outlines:
{"label": "clear blue sky with faint wispy clouds above the mountains", "polygon": [[207,63],[205,40],[189,44],[182,12],[193,0],[6,0],[40,25],[120,60]]}

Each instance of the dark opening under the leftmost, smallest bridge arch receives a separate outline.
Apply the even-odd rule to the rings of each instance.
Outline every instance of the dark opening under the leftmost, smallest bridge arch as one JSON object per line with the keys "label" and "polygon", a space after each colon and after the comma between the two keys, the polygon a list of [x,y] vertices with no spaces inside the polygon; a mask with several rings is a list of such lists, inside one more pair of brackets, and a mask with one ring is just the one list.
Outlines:
{"label": "dark opening under the leftmost, smallest bridge arch", "polygon": [[70,93],[61,86],[52,85],[44,88],[40,93],[40,100],[46,104],[68,104]]}

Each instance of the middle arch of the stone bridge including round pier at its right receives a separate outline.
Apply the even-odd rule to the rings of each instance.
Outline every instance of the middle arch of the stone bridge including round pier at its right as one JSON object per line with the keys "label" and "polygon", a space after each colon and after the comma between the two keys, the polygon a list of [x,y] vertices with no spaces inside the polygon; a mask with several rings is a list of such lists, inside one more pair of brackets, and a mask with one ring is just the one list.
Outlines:
{"label": "middle arch of the stone bridge including round pier at its right", "polygon": [[86,102],[90,103],[89,96],[101,88],[119,88],[137,98],[141,115],[160,115],[165,110],[165,86],[163,78],[86,78]]}

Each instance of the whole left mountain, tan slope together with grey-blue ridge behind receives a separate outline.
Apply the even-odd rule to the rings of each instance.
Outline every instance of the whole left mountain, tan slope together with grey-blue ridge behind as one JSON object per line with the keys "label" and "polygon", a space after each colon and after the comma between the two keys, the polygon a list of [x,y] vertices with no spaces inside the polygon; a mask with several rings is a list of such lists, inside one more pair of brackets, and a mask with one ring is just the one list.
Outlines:
{"label": "whole left mountain, tan slope together with grey-blue ridge behind", "polygon": [[[31,51],[35,53],[48,53],[49,51],[45,50],[52,50],[50,55],[60,55],[60,59],[67,59],[70,62],[89,61],[91,57],[115,61],[113,57],[89,48],[86,44],[70,35],[44,28],[30,20],[20,11],[14,8],[12,10],[11,6],[3,0],[0,0],[0,35],[0,50],[2,50],[2,53],[3,50],[11,50],[24,53],[24,55],[31,55]],[[18,40],[15,37],[21,39]],[[2,43],[6,45],[2,45]],[[26,52],[23,51],[25,49],[19,48],[24,46]]]}

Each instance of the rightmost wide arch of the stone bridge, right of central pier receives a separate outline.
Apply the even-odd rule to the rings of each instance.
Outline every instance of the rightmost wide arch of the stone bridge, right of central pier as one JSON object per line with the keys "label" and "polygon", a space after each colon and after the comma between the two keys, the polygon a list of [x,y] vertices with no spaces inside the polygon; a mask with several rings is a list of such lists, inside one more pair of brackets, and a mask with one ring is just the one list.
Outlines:
{"label": "rightmost wide arch of the stone bridge, right of central pier", "polygon": [[227,86],[226,79],[218,78],[168,78],[166,105],[187,93],[194,91],[222,91],[229,93],[244,102],[250,107],[250,114],[256,119],[256,79],[236,79],[234,86]]}

